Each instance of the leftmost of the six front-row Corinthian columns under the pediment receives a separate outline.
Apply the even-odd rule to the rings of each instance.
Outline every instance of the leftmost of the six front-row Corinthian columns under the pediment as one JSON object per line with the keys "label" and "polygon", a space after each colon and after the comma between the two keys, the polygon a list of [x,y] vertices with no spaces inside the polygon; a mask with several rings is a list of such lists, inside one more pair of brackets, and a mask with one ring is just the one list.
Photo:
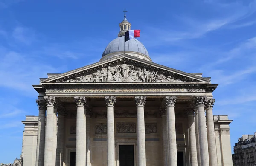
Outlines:
{"label": "leftmost of the six front-row Corinthian columns under the pediment", "polygon": [[45,96],[44,97],[46,102],[46,128],[45,128],[45,146],[44,146],[44,166],[54,166],[53,164],[53,143],[55,142],[56,136],[54,135],[54,106],[55,106],[55,97],[52,96]]}

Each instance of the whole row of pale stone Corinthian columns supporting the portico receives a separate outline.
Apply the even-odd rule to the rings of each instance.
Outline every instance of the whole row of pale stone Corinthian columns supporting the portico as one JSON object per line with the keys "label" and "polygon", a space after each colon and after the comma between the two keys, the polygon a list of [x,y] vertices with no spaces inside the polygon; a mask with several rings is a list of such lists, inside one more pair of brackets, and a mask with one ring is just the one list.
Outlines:
{"label": "whole row of pale stone Corinthian columns supporting the portico", "polygon": [[[87,100],[84,96],[74,97],[76,115],[76,166],[87,162],[86,152],[90,146],[86,133],[89,115],[86,113]],[[135,96],[137,106],[137,159],[138,166],[146,166],[145,149],[145,96]],[[162,115],[163,166],[177,166],[177,143],[175,129],[175,96],[166,96]],[[39,108],[38,141],[36,166],[63,166],[64,147],[64,110],[58,109],[58,141],[56,135],[57,115],[55,97],[45,96],[37,100]],[[107,107],[107,165],[115,166],[114,106],[115,96],[105,96]],[[217,166],[215,131],[212,107],[214,100],[205,96],[195,96],[193,107],[187,110],[189,124],[189,158],[190,166]],[[206,118],[205,118],[206,110]],[[45,122],[45,111],[47,111]],[[195,112],[195,115],[194,115]],[[89,117],[90,118],[90,117]]]}

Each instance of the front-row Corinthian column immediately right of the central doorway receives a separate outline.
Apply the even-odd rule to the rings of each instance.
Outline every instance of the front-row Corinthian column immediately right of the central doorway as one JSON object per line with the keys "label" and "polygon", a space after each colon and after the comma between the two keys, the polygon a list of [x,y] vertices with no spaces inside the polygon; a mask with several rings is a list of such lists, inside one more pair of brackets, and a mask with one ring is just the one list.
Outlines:
{"label": "front-row Corinthian column immediately right of the central doorway", "polygon": [[145,143],[145,120],[144,106],[145,96],[135,96],[137,106],[137,144],[138,144],[138,166],[146,166],[146,143]]}

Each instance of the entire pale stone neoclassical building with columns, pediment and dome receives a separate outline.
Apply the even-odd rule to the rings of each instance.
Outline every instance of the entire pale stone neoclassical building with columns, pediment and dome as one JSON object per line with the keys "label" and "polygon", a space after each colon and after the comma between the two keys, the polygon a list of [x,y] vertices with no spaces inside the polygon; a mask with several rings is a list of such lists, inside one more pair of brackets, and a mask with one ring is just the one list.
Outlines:
{"label": "entire pale stone neoclassical building with columns, pediment and dome", "polygon": [[[152,62],[126,19],[99,62],[33,85],[23,166],[232,166],[227,115],[213,115],[211,84]],[[125,48],[125,53],[124,53]]]}

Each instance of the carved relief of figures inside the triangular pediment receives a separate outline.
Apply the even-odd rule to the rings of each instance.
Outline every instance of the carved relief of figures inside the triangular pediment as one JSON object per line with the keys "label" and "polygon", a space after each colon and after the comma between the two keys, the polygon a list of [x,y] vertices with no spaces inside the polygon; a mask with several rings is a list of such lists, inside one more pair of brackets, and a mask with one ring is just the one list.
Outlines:
{"label": "carved relief of figures inside the triangular pediment", "polygon": [[121,65],[108,66],[101,68],[95,73],[77,76],[74,79],[62,82],[183,82],[173,76],[160,74],[158,71],[150,70],[145,67],[127,65],[124,61]]}

